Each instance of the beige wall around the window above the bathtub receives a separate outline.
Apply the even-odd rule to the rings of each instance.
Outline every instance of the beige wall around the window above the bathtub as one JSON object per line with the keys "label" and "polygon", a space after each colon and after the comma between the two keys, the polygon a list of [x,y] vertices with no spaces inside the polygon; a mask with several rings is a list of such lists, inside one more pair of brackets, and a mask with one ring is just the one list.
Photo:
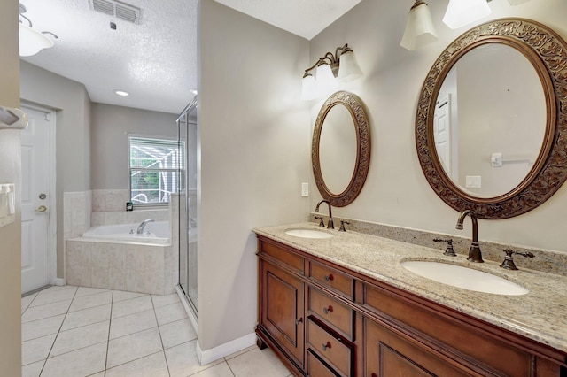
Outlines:
{"label": "beige wall around the window above the bathtub", "polygon": [[176,114],[92,104],[93,189],[128,189],[128,133],[177,137]]}

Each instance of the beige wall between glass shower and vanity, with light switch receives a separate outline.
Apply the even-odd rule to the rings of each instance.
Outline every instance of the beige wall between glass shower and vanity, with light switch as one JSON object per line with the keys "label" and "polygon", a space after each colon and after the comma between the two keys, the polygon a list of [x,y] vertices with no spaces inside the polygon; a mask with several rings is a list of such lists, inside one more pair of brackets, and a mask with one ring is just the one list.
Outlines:
{"label": "beige wall between glass shower and vanity, with light switch", "polygon": [[252,227],[307,219],[308,42],[212,0],[200,13],[198,341],[209,350],[254,331]]}

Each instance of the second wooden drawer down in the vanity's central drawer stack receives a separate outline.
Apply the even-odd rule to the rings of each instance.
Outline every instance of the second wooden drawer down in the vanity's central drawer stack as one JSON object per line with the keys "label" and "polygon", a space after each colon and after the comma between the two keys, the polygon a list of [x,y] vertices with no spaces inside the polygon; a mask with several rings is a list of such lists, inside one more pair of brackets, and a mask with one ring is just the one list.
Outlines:
{"label": "second wooden drawer down in the vanity's central drawer stack", "polygon": [[319,289],[309,287],[308,308],[349,340],[353,340],[353,310]]}

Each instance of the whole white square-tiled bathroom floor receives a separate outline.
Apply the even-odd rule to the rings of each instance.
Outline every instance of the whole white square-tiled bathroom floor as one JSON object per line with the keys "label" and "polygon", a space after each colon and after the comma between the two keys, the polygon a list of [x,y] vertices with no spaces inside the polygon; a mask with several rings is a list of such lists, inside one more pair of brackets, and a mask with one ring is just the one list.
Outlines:
{"label": "whole white square-tiled bathroom floor", "polygon": [[252,346],[199,365],[197,335],[175,295],[50,287],[21,299],[24,377],[287,377]]}

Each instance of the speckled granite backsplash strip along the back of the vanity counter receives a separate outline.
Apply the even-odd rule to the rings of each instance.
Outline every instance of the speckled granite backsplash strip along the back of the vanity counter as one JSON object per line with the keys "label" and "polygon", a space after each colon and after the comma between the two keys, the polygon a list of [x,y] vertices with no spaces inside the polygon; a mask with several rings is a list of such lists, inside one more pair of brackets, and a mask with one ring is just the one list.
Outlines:
{"label": "speckled granite backsplash strip along the back of the vanity counter", "polygon": [[[327,223],[328,216],[319,212],[312,212],[310,221],[319,224],[319,220],[315,216],[322,216]],[[389,225],[378,224],[369,221],[361,221],[357,219],[346,219],[333,217],[335,227],[340,227],[340,220],[346,220],[349,225],[346,225],[347,232],[359,232],[365,235],[377,235],[378,237],[390,238],[391,240],[413,243],[415,245],[425,246],[433,249],[445,250],[447,247],[446,242],[433,242],[434,238],[453,240],[454,251],[457,254],[469,255],[470,238],[458,237],[455,235],[443,235],[440,233],[425,232],[423,230],[416,230],[407,227],[392,227]],[[456,220],[455,220],[456,221]],[[465,234],[470,234],[469,231]],[[506,245],[497,242],[485,242],[482,239],[478,241],[480,250],[482,250],[482,258],[484,260],[492,260],[493,262],[502,263],[504,260],[504,252],[502,250],[512,249],[520,252],[531,252],[535,258],[524,258],[517,256],[514,258],[516,265],[519,269],[527,268],[530,270],[541,271],[542,273],[554,273],[558,275],[567,276],[567,253],[554,251],[554,250],[540,250],[529,249],[517,245]]]}

